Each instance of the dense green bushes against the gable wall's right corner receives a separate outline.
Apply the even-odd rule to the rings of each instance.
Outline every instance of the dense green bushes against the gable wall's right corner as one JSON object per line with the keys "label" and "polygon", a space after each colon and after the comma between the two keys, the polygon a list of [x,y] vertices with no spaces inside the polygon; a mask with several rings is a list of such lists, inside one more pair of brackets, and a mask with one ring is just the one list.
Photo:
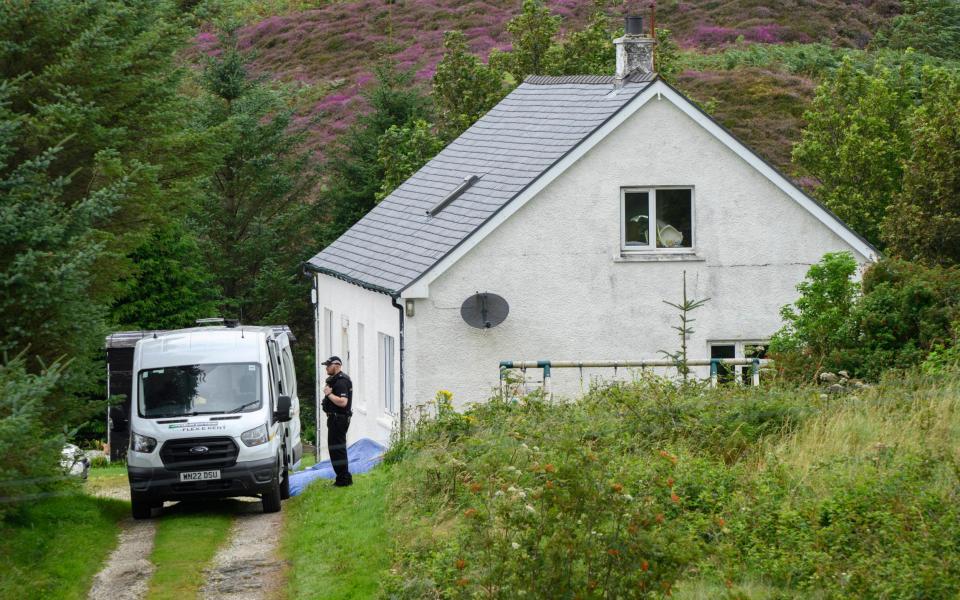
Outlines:
{"label": "dense green bushes against the gable wall's right corner", "polygon": [[788,374],[846,369],[879,379],[917,367],[956,335],[960,270],[883,260],[864,273],[861,293],[856,268],[849,254],[828,254],[797,286],[800,298],[781,311],[786,324],[770,344]]}

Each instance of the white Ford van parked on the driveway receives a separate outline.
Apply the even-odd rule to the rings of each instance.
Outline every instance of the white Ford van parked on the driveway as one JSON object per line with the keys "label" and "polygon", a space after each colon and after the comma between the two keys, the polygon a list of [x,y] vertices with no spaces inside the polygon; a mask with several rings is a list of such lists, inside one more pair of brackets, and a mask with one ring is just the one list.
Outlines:
{"label": "white Ford van parked on the driveway", "polygon": [[290,496],[303,454],[286,328],[236,323],[136,342],[127,474],[135,519],[164,500]]}

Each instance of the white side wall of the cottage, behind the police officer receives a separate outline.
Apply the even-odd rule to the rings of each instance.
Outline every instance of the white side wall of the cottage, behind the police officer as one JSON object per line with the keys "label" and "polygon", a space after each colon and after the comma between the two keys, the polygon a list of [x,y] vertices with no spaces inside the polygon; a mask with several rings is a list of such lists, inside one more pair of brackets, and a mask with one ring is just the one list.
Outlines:
{"label": "white side wall of the cottage, behind the police officer", "polygon": [[[343,370],[353,380],[353,418],[347,432],[347,443],[360,438],[370,438],[387,445],[395,417],[390,415],[383,403],[380,390],[379,339],[386,334],[394,339],[394,394],[399,405],[400,398],[400,323],[399,312],[393,307],[390,296],[373,292],[317,273],[317,377],[320,393],[326,372],[319,362],[330,355],[344,361]],[[328,327],[325,310],[332,313],[332,345],[328,348]],[[363,327],[363,360],[360,356],[360,326]],[[344,335],[346,331],[346,335]],[[304,427],[313,427],[304,423]],[[326,422],[321,414],[321,453],[328,456]]]}

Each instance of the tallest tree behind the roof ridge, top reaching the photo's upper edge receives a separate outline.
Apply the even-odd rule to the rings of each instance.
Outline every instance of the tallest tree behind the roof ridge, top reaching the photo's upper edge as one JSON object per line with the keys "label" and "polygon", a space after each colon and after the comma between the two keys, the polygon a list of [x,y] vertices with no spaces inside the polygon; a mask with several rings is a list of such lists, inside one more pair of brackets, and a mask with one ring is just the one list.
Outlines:
{"label": "tallest tree behind the roof ridge, top reaching the photo's upper edge", "polygon": [[527,75],[547,74],[548,52],[560,22],[561,18],[550,14],[542,0],[523,0],[520,14],[507,22],[513,49],[491,52],[490,66],[508,73],[517,84]]}

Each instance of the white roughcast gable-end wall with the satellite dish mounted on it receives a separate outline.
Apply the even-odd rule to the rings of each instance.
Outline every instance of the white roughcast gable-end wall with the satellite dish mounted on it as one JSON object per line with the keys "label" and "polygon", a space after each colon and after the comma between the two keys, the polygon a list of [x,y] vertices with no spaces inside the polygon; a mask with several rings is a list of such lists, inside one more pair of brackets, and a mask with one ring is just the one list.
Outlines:
{"label": "white roughcast gable-end wall with the satellite dish mounted on it", "polygon": [[[621,256],[628,186],[694,187],[695,258]],[[670,101],[651,99],[416,300],[407,405],[439,389],[459,405],[482,401],[500,360],[662,358],[678,347],[677,311],[664,301],[680,301],[684,272],[689,295],[710,298],[692,315],[690,358],[708,358],[711,340],[767,339],[809,265],[839,250],[867,260]],[[477,291],[507,299],[503,324],[463,322],[460,305]],[[582,374],[592,375],[613,373]],[[581,373],[553,376],[555,391],[580,390]]]}

